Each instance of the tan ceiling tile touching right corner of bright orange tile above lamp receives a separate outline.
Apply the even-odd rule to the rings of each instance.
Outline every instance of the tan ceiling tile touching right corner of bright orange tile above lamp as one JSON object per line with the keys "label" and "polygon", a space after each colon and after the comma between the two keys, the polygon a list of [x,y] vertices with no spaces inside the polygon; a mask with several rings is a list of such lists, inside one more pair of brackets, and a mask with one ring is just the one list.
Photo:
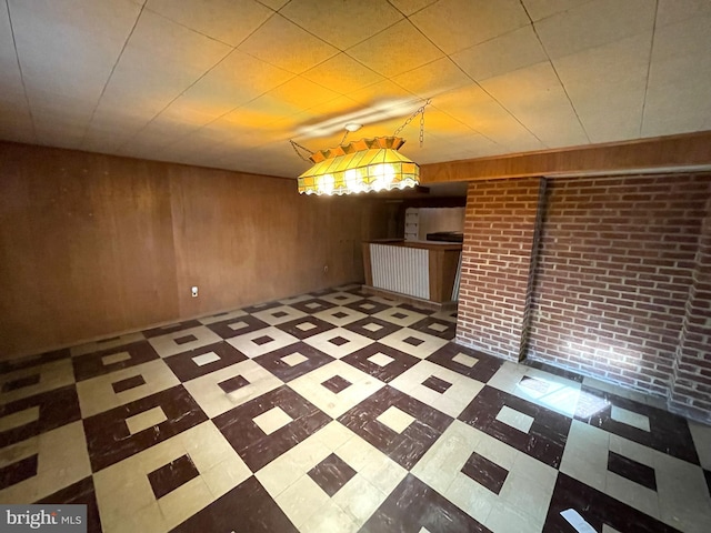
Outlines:
{"label": "tan ceiling tile touching right corner of bright orange tile above lamp", "polygon": [[530,67],[547,59],[531,26],[475,44],[451,56],[477,81]]}

